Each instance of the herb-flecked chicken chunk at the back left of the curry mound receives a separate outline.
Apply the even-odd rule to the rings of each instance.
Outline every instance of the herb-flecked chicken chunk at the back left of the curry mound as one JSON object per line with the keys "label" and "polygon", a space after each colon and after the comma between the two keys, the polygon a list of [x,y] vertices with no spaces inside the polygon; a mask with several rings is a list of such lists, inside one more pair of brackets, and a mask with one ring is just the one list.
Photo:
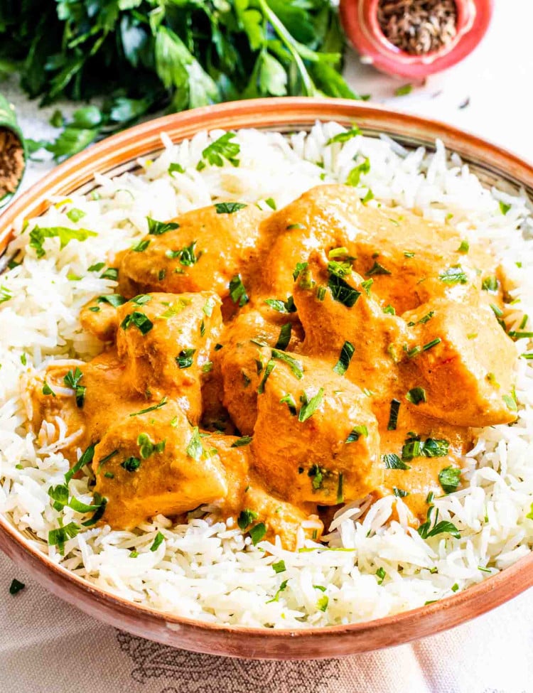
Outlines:
{"label": "herb-flecked chicken chunk at the back left of the curry mound", "polygon": [[228,296],[232,277],[247,276],[265,213],[255,205],[222,211],[235,203],[227,205],[210,205],[176,217],[166,225],[171,228],[156,227],[122,254],[122,293],[213,291],[222,299]]}

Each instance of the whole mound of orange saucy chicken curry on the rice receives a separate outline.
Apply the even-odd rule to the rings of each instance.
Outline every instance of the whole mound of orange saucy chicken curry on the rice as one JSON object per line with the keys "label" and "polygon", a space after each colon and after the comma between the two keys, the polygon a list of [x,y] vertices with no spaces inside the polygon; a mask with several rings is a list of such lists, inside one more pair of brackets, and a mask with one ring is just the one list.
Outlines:
{"label": "whole mound of orange saucy chicken curry on the rice", "polygon": [[417,526],[472,429],[516,418],[497,262],[448,223],[323,185],[149,219],[116,264],[80,316],[102,353],[31,385],[114,528],[205,507],[293,549],[389,494]]}

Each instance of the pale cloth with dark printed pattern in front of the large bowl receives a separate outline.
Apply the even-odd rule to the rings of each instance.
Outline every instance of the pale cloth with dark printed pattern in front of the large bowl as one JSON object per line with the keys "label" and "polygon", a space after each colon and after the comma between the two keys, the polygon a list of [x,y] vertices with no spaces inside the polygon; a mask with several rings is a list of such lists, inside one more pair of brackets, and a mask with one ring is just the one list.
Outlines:
{"label": "pale cloth with dark printed pattern in front of the large bowl", "polygon": [[[11,596],[17,578],[25,589]],[[412,645],[268,662],[173,650],[102,625],[0,554],[0,693],[530,693],[533,590]]]}

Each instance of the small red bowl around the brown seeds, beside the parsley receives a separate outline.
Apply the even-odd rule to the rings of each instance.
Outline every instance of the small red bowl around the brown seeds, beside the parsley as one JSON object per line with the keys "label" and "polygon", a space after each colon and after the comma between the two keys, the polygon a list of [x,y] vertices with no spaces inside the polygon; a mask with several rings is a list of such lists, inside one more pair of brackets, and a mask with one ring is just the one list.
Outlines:
{"label": "small red bowl around the brown seeds, beside the parsley", "polygon": [[[438,6],[438,2],[419,2],[419,6]],[[446,3],[449,4],[449,3]],[[423,80],[435,72],[446,70],[471,53],[487,31],[492,16],[493,0],[454,0],[455,35],[445,36],[438,47],[409,52],[387,38],[379,23],[378,11],[384,6],[405,7],[412,11],[414,3],[394,0],[340,0],[340,18],[346,35],[360,53],[362,62],[375,65],[392,75]],[[409,7],[411,6],[411,7]],[[416,33],[416,30],[414,30]],[[401,42],[397,42],[401,43]],[[438,42],[435,42],[438,43]]]}

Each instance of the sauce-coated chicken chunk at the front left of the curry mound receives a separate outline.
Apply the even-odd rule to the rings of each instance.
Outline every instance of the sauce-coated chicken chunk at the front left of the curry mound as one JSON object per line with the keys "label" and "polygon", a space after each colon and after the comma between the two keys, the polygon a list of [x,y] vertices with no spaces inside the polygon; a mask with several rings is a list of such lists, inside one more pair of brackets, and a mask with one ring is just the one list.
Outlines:
{"label": "sauce-coated chicken chunk at the front left of the curry mound", "polygon": [[131,529],[154,515],[178,515],[227,494],[215,448],[175,402],[122,419],[95,447],[95,490],[107,505],[103,522]]}

